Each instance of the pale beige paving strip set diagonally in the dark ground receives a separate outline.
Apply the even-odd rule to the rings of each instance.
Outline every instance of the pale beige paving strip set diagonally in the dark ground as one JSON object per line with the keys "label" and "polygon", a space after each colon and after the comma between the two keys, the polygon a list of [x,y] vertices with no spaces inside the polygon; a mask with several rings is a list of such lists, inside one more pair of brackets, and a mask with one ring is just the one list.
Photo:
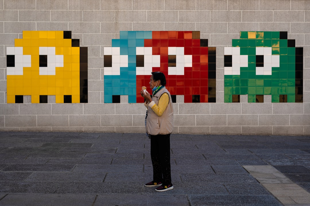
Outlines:
{"label": "pale beige paving strip set diagonally in the dark ground", "polygon": [[310,193],[273,166],[246,165],[243,168],[285,206],[310,205]]}

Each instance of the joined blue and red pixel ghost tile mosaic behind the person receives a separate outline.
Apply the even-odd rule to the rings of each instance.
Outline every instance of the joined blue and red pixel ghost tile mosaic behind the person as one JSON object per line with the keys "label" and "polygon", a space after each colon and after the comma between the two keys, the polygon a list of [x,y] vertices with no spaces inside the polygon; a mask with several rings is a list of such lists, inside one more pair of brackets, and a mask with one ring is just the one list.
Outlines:
{"label": "joined blue and red pixel ghost tile mosaic behind the person", "polygon": [[143,103],[142,86],[149,88],[152,71],[166,76],[172,101],[215,102],[216,50],[198,31],[121,31],[104,48],[104,103]]}

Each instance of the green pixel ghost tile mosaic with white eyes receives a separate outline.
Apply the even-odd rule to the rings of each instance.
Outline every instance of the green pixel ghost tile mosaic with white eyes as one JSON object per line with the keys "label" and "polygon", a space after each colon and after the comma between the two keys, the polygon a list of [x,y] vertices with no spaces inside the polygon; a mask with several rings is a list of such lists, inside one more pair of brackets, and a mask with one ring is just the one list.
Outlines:
{"label": "green pixel ghost tile mosaic with white eyes", "polygon": [[303,48],[287,32],[240,32],[224,48],[224,102],[303,102]]}

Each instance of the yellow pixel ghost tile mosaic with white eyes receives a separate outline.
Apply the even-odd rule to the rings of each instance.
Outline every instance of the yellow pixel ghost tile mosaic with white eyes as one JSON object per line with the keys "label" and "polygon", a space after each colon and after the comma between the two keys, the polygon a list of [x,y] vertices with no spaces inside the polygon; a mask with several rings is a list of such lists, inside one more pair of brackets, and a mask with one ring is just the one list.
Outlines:
{"label": "yellow pixel ghost tile mosaic with white eyes", "polygon": [[71,31],[23,31],[7,47],[7,103],[87,103],[87,47]]}

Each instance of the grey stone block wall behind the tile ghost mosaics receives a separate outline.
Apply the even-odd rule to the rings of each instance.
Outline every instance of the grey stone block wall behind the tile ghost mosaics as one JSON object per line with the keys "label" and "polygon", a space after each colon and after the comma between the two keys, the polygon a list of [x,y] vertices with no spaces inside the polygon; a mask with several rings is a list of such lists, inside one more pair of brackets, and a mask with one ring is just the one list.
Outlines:
{"label": "grey stone block wall behind the tile ghost mosaics", "polygon": [[[174,133],[310,135],[308,10],[307,0],[0,0],[0,131],[144,132],[142,103],[104,103],[103,48],[120,31],[200,31],[216,47],[216,103],[174,103]],[[30,30],[69,30],[88,47],[88,103],[7,103],[6,47]],[[287,31],[303,47],[303,103],[224,103],[224,47],[240,31]]]}

